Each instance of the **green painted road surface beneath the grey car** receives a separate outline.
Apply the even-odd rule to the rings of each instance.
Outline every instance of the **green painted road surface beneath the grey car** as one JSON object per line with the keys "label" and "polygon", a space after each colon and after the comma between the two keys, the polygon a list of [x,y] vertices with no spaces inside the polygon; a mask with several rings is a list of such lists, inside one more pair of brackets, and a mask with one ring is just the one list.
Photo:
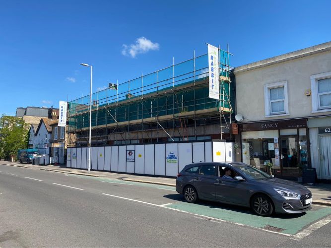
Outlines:
{"label": "green painted road surface beneath the grey car", "polygon": [[[264,228],[266,225],[284,229],[280,233],[294,235],[304,227],[313,222],[331,214],[330,207],[321,207],[319,209],[309,210],[303,215],[273,215],[271,217],[262,217],[250,212],[240,212],[227,208],[219,208],[211,205],[192,204],[187,202],[178,202],[167,206],[168,208],[178,209],[198,215],[217,218],[229,222],[240,223],[251,227]],[[315,210],[315,211],[314,211]]]}

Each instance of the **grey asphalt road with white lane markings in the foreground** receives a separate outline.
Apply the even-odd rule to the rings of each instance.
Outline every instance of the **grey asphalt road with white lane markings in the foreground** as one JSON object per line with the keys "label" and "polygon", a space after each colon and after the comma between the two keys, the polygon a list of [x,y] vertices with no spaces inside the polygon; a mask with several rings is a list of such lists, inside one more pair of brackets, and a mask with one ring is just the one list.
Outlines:
{"label": "grey asphalt road with white lane markings in the foreground", "polygon": [[[321,218],[289,236],[203,214],[215,210],[256,220],[247,209],[186,206],[173,187],[0,165],[1,248],[331,246],[330,215],[316,215]],[[313,212],[326,210],[314,206]],[[274,219],[292,225],[306,216]]]}

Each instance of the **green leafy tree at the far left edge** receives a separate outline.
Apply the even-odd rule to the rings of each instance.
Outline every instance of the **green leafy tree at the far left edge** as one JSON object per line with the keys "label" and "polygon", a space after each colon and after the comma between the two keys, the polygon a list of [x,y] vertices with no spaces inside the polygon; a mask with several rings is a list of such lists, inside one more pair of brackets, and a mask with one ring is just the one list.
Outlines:
{"label": "green leafy tree at the far left edge", "polygon": [[30,125],[22,118],[0,117],[0,158],[10,159],[16,156],[19,149],[27,148],[28,131]]}

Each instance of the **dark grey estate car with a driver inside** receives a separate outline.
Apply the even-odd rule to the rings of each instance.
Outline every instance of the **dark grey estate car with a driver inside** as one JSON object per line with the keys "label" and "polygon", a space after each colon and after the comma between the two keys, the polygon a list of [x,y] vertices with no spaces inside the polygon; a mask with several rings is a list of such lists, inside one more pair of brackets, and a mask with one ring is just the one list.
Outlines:
{"label": "dark grey estate car with a driver inside", "polygon": [[176,191],[191,203],[204,199],[247,206],[261,216],[312,208],[312,193],[306,187],[240,162],[187,165],[177,175]]}

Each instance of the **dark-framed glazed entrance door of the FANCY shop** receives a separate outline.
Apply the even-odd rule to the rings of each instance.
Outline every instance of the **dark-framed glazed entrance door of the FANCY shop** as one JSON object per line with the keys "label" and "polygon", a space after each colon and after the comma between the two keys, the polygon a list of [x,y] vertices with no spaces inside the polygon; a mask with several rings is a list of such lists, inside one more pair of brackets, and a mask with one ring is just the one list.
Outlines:
{"label": "dark-framed glazed entrance door of the FANCY shop", "polygon": [[280,137],[279,146],[282,176],[298,177],[298,136]]}

